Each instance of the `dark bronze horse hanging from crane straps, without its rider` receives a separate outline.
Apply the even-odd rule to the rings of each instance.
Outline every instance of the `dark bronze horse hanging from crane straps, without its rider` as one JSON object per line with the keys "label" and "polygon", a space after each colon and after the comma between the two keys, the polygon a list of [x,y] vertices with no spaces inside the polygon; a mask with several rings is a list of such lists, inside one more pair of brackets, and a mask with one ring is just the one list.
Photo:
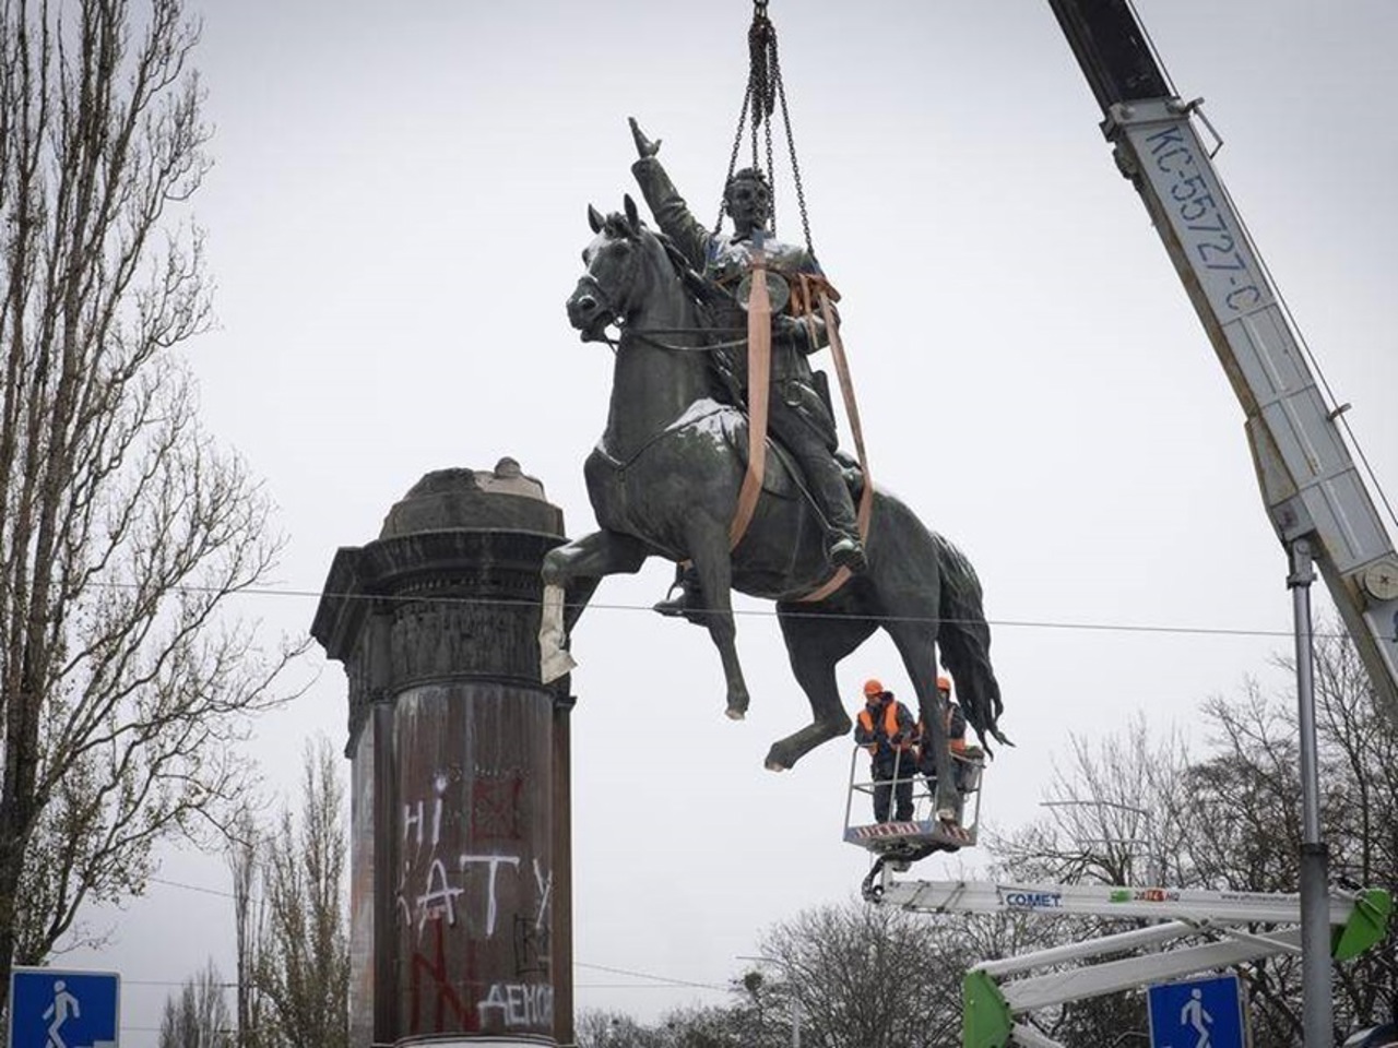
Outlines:
{"label": "dark bronze horse hanging from crane straps, without its rider", "polygon": [[709,359],[713,335],[685,274],[660,235],[646,228],[626,197],[625,214],[589,208],[597,236],[583,252],[587,271],[568,299],[568,317],[584,341],[617,340],[607,430],[584,472],[600,531],[548,553],[544,581],[563,587],[565,633],[597,583],[635,573],[646,558],[689,559],[707,604],[710,637],[727,682],[727,713],[740,720],[748,689],[734,644],[730,588],[774,599],[791,669],[814,720],[779,739],[770,769],[788,769],[822,742],[844,735],[850,718],[836,685],[836,664],[882,627],[917,692],[937,753],[938,813],[955,808],[945,720],[935,689],[937,651],[952,674],[962,707],[981,741],[1001,742],[1000,686],[990,665],[990,629],[976,573],[945,538],[930,531],[893,495],[875,486],[867,537],[868,569],[829,597],[802,602],[833,569],[823,531],[780,449],[768,444],[766,479],[752,523],[730,552],[728,524],[747,468],[747,418],[723,402]]}

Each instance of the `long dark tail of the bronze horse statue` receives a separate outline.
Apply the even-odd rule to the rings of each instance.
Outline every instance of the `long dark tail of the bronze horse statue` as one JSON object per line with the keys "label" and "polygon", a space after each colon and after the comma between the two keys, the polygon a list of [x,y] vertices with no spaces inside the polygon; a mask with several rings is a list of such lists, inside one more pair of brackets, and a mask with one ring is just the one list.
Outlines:
{"label": "long dark tail of the bronze horse statue", "polygon": [[955,679],[956,699],[986,752],[991,752],[987,735],[1014,746],[998,727],[1004,703],[990,667],[990,625],[981,606],[980,578],[965,553],[935,531],[931,535],[942,576],[937,634],[942,665]]}

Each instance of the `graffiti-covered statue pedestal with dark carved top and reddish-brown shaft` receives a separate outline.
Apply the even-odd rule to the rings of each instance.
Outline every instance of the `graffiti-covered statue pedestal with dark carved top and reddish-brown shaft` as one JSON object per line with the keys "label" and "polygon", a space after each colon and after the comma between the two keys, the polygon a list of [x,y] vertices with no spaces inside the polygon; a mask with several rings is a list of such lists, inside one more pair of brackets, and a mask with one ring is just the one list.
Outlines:
{"label": "graffiti-covered statue pedestal with dark carved top and reddish-brown shaft", "polygon": [[506,458],[336,553],[312,634],[350,682],[355,1048],[572,1041],[572,700],[537,640],[562,541]]}

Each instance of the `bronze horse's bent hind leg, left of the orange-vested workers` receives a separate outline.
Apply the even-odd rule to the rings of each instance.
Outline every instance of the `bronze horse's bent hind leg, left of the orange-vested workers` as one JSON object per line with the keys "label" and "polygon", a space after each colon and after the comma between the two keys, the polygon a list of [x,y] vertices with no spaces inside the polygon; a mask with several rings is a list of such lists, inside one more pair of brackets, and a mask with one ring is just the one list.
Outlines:
{"label": "bronze horse's bent hind leg, left of the orange-vested workers", "polygon": [[786,640],[791,672],[811,703],[811,724],[768,750],[766,767],[783,771],[819,746],[850,731],[850,718],[840,701],[835,667],[874,633],[874,622],[844,615],[822,615],[809,605],[779,605],[777,620]]}

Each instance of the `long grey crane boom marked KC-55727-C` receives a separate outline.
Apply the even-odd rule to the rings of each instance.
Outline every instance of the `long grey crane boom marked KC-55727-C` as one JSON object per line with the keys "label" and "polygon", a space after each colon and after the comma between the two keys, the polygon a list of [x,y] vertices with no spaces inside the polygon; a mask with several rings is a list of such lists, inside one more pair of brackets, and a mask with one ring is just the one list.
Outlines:
{"label": "long grey crane boom marked KC-55727-C", "polygon": [[1380,704],[1398,720],[1398,555],[1276,291],[1128,0],[1048,0],[1243,405],[1268,517],[1307,541]]}

